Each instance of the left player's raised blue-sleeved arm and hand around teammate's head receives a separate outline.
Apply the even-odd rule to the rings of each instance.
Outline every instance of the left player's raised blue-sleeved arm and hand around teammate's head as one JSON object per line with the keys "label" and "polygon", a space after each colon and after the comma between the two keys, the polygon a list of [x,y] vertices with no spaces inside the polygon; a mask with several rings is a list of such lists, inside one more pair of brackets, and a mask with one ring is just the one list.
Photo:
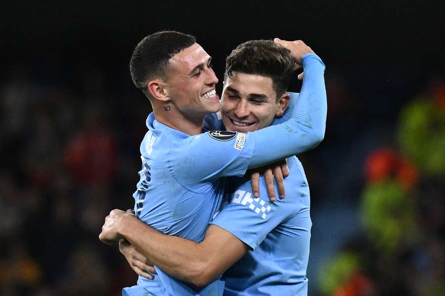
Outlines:
{"label": "left player's raised blue-sleeved arm and hand around teammate's head", "polygon": [[300,57],[305,71],[291,118],[248,134],[226,132],[221,137],[209,132],[189,137],[187,148],[182,145],[170,154],[172,163],[179,165],[175,168],[178,179],[190,179],[189,184],[196,184],[223,176],[243,176],[247,169],[302,153],[322,141],[327,113],[325,66],[302,41],[289,42],[288,46]]}

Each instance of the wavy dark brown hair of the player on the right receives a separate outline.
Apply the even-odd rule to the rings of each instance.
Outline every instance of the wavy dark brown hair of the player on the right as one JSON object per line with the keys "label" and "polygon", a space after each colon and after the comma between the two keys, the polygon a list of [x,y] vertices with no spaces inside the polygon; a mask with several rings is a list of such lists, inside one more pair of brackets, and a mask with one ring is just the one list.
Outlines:
{"label": "wavy dark brown hair of the player on the right", "polygon": [[225,60],[224,78],[233,72],[270,77],[277,99],[287,90],[295,60],[289,49],[272,40],[251,40],[238,45]]}

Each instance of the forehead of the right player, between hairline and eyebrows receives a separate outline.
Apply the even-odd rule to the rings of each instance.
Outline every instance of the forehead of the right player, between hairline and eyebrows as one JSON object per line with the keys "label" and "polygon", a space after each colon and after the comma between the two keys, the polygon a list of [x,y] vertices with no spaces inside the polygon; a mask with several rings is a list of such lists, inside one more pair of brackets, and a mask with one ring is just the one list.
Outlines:
{"label": "forehead of the right player, between hairline and eyebrows", "polygon": [[275,99],[276,97],[272,78],[239,72],[233,72],[231,77],[226,77],[224,81],[224,91],[236,92],[241,96],[260,94],[266,95],[269,99]]}

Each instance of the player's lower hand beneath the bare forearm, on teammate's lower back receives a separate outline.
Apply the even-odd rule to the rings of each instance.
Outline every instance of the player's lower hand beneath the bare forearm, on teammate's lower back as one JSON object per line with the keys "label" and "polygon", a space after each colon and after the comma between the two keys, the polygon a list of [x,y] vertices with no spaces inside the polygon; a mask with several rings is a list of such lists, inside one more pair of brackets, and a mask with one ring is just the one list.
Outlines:
{"label": "player's lower hand beneath the bare forearm, on teammate's lower back", "polygon": [[137,275],[140,275],[146,279],[152,280],[154,277],[151,273],[156,274],[156,269],[153,267],[153,263],[150,262],[139,250],[130,244],[126,239],[119,240],[119,251],[125,256],[130,267]]}

